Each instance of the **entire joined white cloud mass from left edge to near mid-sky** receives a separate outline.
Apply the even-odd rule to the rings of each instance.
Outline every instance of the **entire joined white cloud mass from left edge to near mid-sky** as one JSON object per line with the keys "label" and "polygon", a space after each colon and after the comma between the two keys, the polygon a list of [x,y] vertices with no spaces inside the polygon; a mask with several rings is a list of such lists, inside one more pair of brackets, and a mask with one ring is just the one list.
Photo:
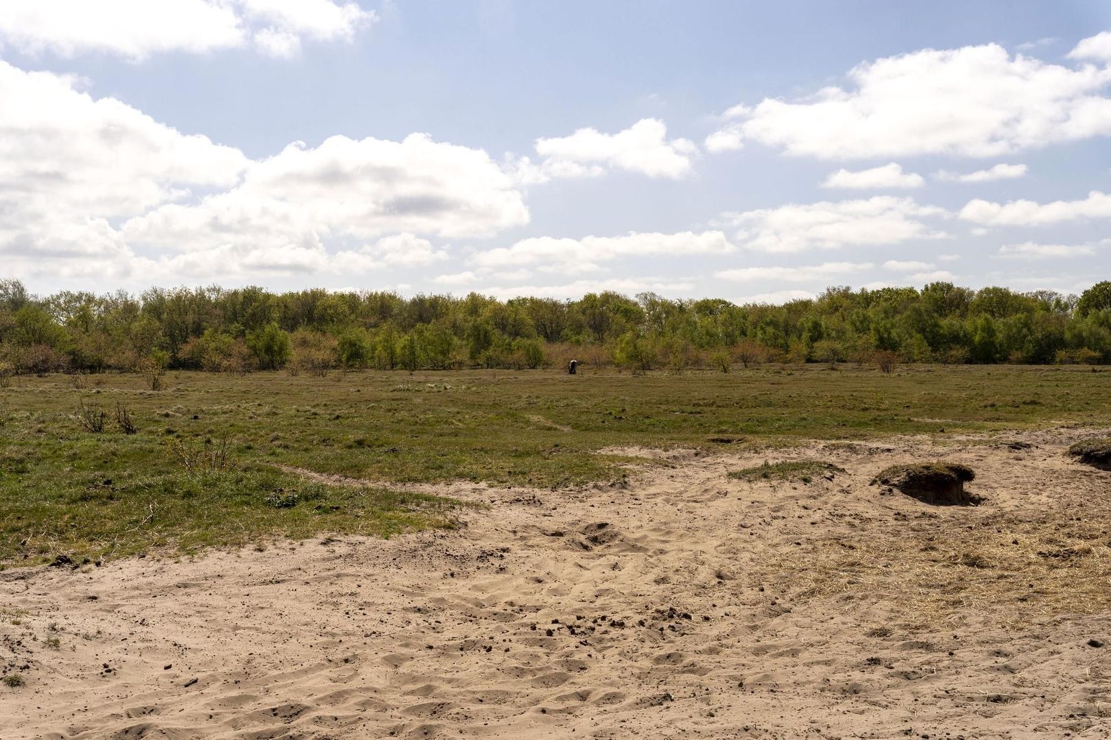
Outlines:
{"label": "entire joined white cloud mass from left edge to near mid-sky", "polygon": [[529,221],[482,150],[333,136],[253,161],[73,78],[0,61],[0,262],[12,273],[202,278],[433,264],[428,237]]}

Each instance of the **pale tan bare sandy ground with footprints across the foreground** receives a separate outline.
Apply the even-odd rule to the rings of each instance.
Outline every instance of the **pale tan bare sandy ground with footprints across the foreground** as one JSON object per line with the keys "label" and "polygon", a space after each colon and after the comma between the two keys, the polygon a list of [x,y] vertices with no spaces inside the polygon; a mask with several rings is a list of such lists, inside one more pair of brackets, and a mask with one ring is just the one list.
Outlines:
{"label": "pale tan bare sandy ground with footprints across the foreground", "polygon": [[[0,737],[1109,738],[1111,615],[1025,616],[990,564],[942,608],[962,566],[907,565],[1038,527],[1111,554],[1083,504],[1111,474],[1063,456],[1077,435],[672,453],[627,487],[447,487],[491,505],[458,531],[0,572],[0,666],[27,680],[0,687]],[[847,473],[727,478],[807,456]],[[869,486],[940,456],[984,505]],[[907,546],[867,550],[884,538]],[[831,547],[861,548],[860,578],[824,592]],[[1111,589],[1104,566],[1062,572]]]}

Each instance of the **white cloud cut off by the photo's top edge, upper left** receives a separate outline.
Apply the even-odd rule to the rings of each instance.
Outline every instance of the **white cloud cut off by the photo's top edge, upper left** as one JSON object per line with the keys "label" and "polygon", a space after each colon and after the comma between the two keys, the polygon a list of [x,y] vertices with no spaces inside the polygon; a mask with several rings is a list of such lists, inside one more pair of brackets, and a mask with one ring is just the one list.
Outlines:
{"label": "white cloud cut off by the photo's top edge, upper left", "polygon": [[28,53],[204,53],[248,47],[288,57],[304,38],[349,41],[373,11],[334,0],[4,0],[0,40]]}

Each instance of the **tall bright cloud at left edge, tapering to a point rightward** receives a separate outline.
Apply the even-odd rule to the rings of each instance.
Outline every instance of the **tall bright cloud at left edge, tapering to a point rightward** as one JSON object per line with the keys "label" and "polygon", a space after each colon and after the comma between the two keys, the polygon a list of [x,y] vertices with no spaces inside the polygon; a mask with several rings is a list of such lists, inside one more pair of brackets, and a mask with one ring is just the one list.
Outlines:
{"label": "tall bright cloud at left edge, tapering to a point rightward", "polygon": [[128,259],[113,223],[192,187],[232,186],[250,164],[238,149],[76,84],[0,61],[0,255],[9,264]]}

